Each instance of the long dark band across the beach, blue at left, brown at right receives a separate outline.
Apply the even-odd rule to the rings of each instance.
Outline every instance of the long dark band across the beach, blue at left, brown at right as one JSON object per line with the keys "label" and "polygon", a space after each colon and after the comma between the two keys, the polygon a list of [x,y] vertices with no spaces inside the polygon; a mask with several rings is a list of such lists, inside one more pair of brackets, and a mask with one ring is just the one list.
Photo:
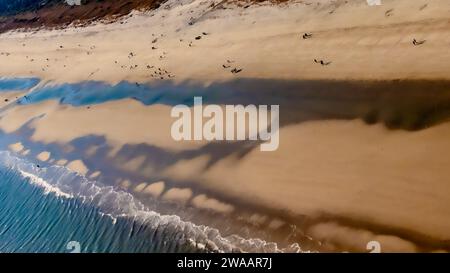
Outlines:
{"label": "long dark band across the beach, blue at left, brown at right", "polygon": [[390,129],[420,130],[450,117],[450,81],[279,81],[240,79],[203,86],[163,81],[152,84],[102,82],[36,88],[18,104],[59,100],[86,106],[131,98],[145,105],[204,104],[280,105],[280,125],[310,120],[362,119]]}

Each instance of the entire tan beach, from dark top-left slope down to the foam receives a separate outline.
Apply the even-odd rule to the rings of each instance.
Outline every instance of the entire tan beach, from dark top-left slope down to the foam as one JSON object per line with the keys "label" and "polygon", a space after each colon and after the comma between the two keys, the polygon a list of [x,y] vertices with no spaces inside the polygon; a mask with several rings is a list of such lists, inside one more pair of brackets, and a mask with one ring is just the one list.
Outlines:
{"label": "entire tan beach, from dark top-left slope down to the foam", "polygon": [[[41,81],[0,92],[0,146],[162,213],[219,229],[225,217],[225,233],[447,252],[450,5],[382,3],[167,1],[107,24],[4,32],[0,76]],[[86,81],[110,93],[91,102]],[[219,105],[280,104],[279,149],[174,141],[170,111],[191,89]]]}

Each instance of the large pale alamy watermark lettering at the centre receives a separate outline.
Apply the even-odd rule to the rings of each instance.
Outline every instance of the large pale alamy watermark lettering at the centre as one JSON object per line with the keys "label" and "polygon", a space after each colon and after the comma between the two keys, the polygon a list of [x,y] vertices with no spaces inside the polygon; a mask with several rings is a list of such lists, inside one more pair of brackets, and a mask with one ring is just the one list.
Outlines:
{"label": "large pale alamy watermark lettering at the centre", "polygon": [[[194,106],[176,105],[170,113],[176,118],[171,136],[175,141],[260,141],[263,152],[279,146],[280,106],[216,105],[203,106],[202,97],[194,97]],[[269,121],[270,120],[270,121]]]}

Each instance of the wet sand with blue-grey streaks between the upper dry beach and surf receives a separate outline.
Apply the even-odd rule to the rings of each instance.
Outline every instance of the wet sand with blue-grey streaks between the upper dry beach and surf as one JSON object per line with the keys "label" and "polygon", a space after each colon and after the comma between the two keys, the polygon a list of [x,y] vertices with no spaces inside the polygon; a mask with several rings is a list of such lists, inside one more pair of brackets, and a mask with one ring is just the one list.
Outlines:
{"label": "wet sand with blue-grey streaks between the upper dry beach and surf", "polygon": [[[385,251],[448,249],[448,82],[240,81],[205,90],[166,83],[141,86],[146,96],[137,97],[133,86],[121,84],[128,99],[103,87],[103,101],[86,104],[92,87],[50,86],[58,96],[37,100],[48,92],[41,85],[27,103],[2,111],[0,128],[15,135],[2,145],[156,198],[159,211],[192,208],[195,216],[185,217],[209,225],[228,215],[236,232],[250,226],[325,251],[364,251],[370,240]],[[286,92],[276,93],[280,86]],[[247,104],[252,92],[258,103],[279,103],[279,150],[173,141],[170,109],[190,99],[189,90],[208,103]]]}

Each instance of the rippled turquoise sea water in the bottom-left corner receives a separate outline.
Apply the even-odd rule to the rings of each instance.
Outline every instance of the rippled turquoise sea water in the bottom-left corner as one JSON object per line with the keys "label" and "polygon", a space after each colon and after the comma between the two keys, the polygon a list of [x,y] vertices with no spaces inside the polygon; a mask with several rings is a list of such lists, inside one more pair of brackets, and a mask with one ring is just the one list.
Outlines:
{"label": "rippled turquoise sea water in the bottom-left corner", "polygon": [[[87,181],[83,185],[81,177],[63,168],[39,170],[8,153],[1,152],[0,157],[6,163],[0,166],[0,252],[71,252],[73,242],[81,252],[198,251],[180,226],[184,223],[151,212],[138,218],[132,213],[136,203],[126,193]],[[12,162],[15,166],[8,166]],[[35,172],[64,179],[61,186],[71,193],[31,174]]]}

